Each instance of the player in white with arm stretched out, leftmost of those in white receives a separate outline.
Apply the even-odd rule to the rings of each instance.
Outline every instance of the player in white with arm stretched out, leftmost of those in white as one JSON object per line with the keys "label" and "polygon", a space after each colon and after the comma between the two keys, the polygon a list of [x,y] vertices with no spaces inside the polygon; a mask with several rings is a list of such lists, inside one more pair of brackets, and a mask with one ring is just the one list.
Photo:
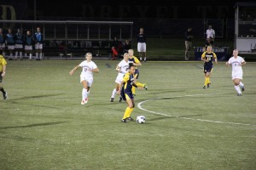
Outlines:
{"label": "player in white with arm stretched out, leftmost of those in white", "polygon": [[79,65],[75,66],[72,71],[69,72],[70,75],[73,75],[73,72],[76,71],[79,67],[82,68],[82,72],[80,74],[80,82],[83,85],[82,90],[82,101],[81,105],[85,105],[88,102],[88,96],[90,94],[90,87],[93,82],[93,72],[99,72],[97,65],[91,60],[92,54],[85,54],[85,59]]}

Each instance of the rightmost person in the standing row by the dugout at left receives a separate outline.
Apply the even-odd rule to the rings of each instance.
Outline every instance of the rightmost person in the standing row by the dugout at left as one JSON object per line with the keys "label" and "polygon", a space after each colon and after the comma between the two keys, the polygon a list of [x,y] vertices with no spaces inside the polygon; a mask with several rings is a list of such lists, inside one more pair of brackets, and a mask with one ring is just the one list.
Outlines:
{"label": "rightmost person in the standing row by the dugout at left", "polygon": [[[36,59],[41,60],[43,57],[43,34],[41,33],[40,27],[37,28],[37,32],[34,34]],[[38,58],[39,54],[39,58]]]}

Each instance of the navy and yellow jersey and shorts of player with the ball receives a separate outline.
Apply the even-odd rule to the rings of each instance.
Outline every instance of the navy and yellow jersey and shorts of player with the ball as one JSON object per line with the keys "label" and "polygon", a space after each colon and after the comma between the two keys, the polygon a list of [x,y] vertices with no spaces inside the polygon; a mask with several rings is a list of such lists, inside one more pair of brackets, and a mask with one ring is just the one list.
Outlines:
{"label": "navy and yellow jersey and shorts of player with the ball", "polygon": [[121,97],[124,100],[133,99],[134,96],[131,92],[131,88],[134,86],[134,76],[130,72],[127,72],[123,78],[123,82],[125,82],[125,84],[121,90]]}

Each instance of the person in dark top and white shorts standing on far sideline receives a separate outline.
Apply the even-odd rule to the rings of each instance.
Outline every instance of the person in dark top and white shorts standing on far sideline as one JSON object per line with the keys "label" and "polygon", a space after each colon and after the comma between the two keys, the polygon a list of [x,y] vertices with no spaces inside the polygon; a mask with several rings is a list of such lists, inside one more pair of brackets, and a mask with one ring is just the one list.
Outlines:
{"label": "person in dark top and white shorts standing on far sideline", "polygon": [[137,34],[137,52],[139,53],[140,60],[147,60],[146,57],[146,35],[144,29],[140,28],[140,33]]}

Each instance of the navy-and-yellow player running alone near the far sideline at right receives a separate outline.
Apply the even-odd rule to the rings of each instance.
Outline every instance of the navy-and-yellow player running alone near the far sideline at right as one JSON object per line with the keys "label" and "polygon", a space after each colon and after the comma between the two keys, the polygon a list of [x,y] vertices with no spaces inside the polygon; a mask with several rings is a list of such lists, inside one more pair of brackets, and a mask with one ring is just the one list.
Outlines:
{"label": "navy-and-yellow player running alone near the far sideline at right", "polygon": [[210,76],[213,70],[213,64],[212,59],[215,60],[215,63],[217,64],[217,56],[215,53],[212,52],[212,46],[207,47],[207,51],[205,51],[203,54],[201,54],[201,60],[204,61],[204,73],[205,73],[205,84],[203,88],[210,88]]}

